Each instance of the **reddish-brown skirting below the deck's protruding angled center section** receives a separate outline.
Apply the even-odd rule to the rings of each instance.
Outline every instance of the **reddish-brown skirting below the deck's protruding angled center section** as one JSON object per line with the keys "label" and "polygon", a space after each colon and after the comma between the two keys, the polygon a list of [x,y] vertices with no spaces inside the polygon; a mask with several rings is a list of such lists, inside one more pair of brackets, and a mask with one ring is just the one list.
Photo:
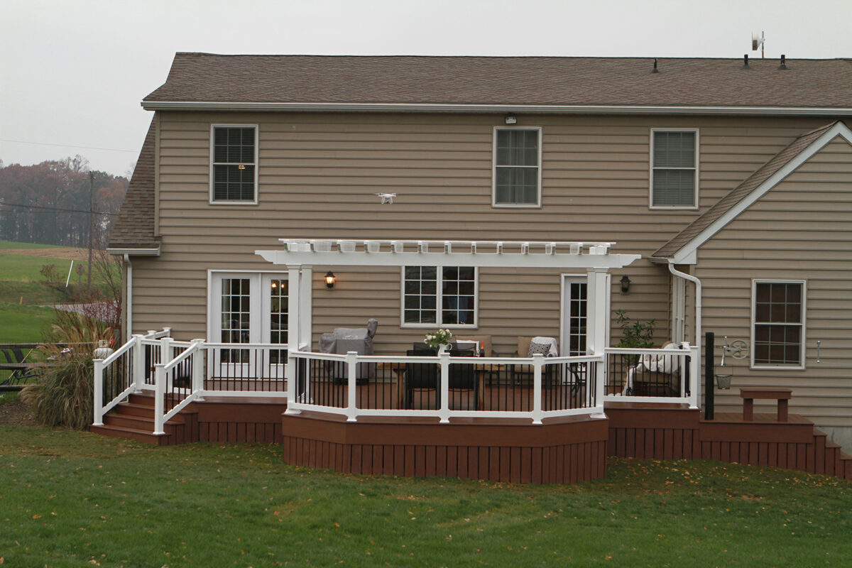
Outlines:
{"label": "reddish-brown skirting below the deck's protruding angled center section", "polygon": [[607,420],[532,426],[487,422],[341,422],[282,418],[285,463],[343,473],[576,483],[607,473]]}

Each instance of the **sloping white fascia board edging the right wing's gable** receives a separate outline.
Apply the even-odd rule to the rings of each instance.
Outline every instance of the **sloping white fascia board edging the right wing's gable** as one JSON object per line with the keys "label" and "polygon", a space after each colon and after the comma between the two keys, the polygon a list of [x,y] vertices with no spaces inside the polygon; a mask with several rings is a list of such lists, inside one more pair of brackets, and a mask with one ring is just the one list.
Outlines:
{"label": "sloping white fascia board edging the right wing's gable", "polygon": [[792,158],[792,160],[790,160],[790,162],[788,162],[783,168],[776,171],[774,175],[769,177],[766,181],[763,181],[762,184],[757,186],[745,198],[742,198],[740,203],[734,205],[731,209],[728,209],[724,215],[719,217],[716,221],[713,221],[711,225],[704,229],[704,231],[699,232],[694,238],[692,238],[692,240],[690,240],[687,244],[684,244],[680,250],[677,250],[674,255],[671,255],[671,259],[675,262],[675,264],[695,264],[696,251],[702,244],[705,244],[708,240],[710,240],[713,235],[721,231],[729,222],[734,221],[740,213],[748,209],[751,204],[754,204],[754,202],[757,201],[757,199],[762,198],[770,189],[786,178],[787,175],[792,174],[792,172],[798,169],[799,166],[807,162],[816,152],[822,150],[826,144],[838,136],[843,137],[843,139],[849,142],[849,144],[852,144],[852,130],[843,123],[835,124],[832,128],[826,130],[826,132],[824,132],[819,138],[811,142],[810,146],[803,148],[803,150],[799,152],[795,158]]}

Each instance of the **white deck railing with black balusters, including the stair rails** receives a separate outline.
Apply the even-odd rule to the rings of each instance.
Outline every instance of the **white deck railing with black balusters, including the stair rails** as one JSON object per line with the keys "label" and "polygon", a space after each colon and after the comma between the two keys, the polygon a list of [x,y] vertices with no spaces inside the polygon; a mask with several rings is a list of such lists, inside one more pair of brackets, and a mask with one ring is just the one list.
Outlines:
{"label": "white deck railing with black balusters, including the stair rails", "polygon": [[[346,416],[524,418],[604,416],[605,401],[698,406],[698,348],[607,348],[582,357],[393,357],[299,351],[286,344],[133,336],[95,359],[95,420],[130,393],[155,394],[154,433],[206,396],[287,400],[287,412]],[[167,334],[168,332],[165,331]],[[291,364],[285,364],[290,361]],[[154,372],[150,370],[153,368]]]}

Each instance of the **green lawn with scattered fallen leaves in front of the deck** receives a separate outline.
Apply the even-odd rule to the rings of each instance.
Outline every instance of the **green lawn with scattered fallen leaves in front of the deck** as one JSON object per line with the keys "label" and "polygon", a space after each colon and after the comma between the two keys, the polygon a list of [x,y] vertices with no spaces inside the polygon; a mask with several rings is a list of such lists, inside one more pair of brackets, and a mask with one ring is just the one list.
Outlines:
{"label": "green lawn with scattered fallen leaves in front of the deck", "polygon": [[609,462],[524,486],[285,466],[273,445],[155,448],[0,427],[11,566],[843,565],[852,484],[719,462]]}

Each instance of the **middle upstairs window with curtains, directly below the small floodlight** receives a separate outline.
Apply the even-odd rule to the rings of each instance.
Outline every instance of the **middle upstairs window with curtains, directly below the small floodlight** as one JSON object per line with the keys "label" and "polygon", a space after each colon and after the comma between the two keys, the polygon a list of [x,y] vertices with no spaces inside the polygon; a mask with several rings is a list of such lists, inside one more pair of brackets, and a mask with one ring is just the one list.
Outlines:
{"label": "middle upstairs window with curtains, directly below the small floodlight", "polygon": [[492,205],[541,205],[541,129],[494,129]]}

